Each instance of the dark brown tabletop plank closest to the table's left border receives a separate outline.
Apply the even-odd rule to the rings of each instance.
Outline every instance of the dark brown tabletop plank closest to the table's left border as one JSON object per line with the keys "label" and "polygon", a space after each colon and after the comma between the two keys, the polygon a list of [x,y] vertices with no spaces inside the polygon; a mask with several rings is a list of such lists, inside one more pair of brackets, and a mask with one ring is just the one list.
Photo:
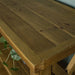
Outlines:
{"label": "dark brown tabletop plank closest to the table's left border", "polygon": [[[2,9],[4,8],[5,7],[3,7]],[[9,13],[6,11],[8,11]],[[36,53],[42,52],[42,50],[44,51],[55,46],[52,42],[48,41],[36,30],[34,30],[29,24],[25,23],[22,19],[18,18],[15,14],[7,10],[7,8],[6,11],[5,9],[4,11],[1,10],[1,19],[4,20],[12,29],[12,31],[14,31]],[[6,14],[3,14],[3,12],[6,12]],[[8,19],[8,16],[10,19]]]}

